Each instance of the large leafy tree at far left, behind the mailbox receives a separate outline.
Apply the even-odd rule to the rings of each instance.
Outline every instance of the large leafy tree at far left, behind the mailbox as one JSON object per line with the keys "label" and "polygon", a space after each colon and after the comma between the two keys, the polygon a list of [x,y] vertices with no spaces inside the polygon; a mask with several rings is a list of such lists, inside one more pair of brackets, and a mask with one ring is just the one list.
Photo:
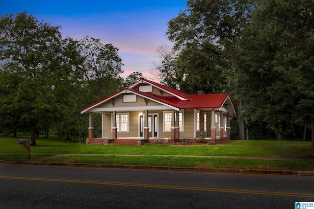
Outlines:
{"label": "large leafy tree at far left, behind the mailbox", "polygon": [[1,82],[15,84],[0,90],[6,105],[1,111],[14,118],[11,123],[18,120],[31,128],[33,145],[36,128],[59,121],[71,103],[68,93],[75,83],[71,79],[78,78],[79,58],[77,43],[62,40],[59,26],[38,21],[26,11],[0,17],[1,73],[9,78]]}

